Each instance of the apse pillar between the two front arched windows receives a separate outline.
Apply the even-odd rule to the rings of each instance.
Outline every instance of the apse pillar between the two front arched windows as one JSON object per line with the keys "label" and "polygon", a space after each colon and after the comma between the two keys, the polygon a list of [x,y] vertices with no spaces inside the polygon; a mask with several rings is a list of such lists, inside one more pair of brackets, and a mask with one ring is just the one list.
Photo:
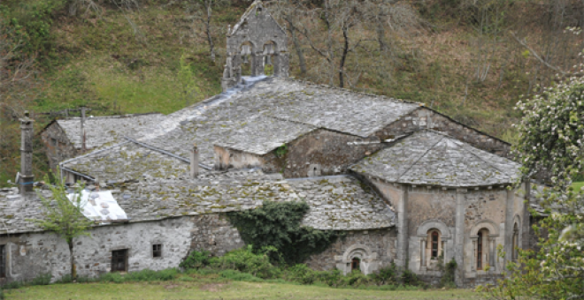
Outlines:
{"label": "apse pillar between the two front arched windows", "polygon": [[462,288],[465,278],[465,193],[466,189],[457,189],[454,259],[457,261],[455,282],[457,283],[458,288]]}

